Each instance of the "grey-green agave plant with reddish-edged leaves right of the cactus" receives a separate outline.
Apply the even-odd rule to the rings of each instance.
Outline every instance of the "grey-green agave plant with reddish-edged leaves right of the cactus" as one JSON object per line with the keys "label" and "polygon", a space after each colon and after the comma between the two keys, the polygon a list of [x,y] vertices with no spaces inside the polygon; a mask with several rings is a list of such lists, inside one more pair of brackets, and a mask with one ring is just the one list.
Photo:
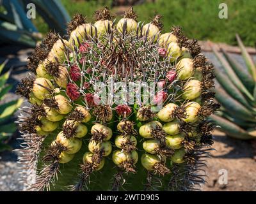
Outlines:
{"label": "grey-green agave plant with reddish-edged leaves right of the cactus", "polygon": [[222,49],[222,54],[212,47],[223,69],[216,69],[216,99],[221,110],[210,118],[228,136],[247,140],[255,138],[256,122],[256,66],[236,35],[247,70],[234,57]]}

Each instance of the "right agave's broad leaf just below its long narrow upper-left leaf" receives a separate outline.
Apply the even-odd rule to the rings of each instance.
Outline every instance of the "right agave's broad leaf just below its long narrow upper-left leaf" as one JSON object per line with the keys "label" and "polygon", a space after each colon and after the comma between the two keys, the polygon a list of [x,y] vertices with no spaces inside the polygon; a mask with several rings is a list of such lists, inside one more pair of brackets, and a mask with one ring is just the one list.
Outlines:
{"label": "right agave's broad leaf just below its long narrow upper-left leaf", "polygon": [[243,94],[241,94],[237,87],[232,83],[232,81],[228,78],[226,73],[223,73],[222,71],[215,69],[214,74],[218,82],[223,87],[223,89],[225,89],[225,91],[227,91],[227,93],[230,96],[232,96],[234,99],[236,99],[241,104],[246,106],[246,108],[252,109],[252,106],[250,106],[250,104],[246,101]]}

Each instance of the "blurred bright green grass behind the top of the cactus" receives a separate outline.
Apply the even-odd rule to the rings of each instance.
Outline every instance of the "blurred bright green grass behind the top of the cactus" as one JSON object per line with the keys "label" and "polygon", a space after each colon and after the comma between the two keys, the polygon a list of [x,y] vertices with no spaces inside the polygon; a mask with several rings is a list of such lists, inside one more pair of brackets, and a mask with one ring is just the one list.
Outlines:
{"label": "blurred bright green grass behind the top of the cactus", "polygon": [[[70,15],[82,13],[93,20],[93,11],[110,6],[111,1],[75,1],[61,0]],[[219,4],[228,6],[228,19],[220,19]],[[140,21],[148,21],[154,13],[163,15],[164,32],[172,25],[180,25],[185,33],[198,40],[212,40],[236,44],[235,33],[239,33],[245,45],[254,46],[256,39],[256,1],[255,0],[158,0],[156,3],[145,3],[135,6]],[[114,8],[113,12],[116,11]],[[120,18],[120,17],[117,17]],[[45,26],[41,25],[43,32]]]}

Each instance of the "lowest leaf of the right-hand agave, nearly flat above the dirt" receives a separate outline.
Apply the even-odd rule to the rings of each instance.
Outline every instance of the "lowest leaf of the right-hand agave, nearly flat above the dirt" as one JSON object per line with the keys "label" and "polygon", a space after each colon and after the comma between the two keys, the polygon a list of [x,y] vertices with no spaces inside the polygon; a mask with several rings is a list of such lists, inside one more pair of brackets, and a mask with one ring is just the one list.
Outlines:
{"label": "lowest leaf of the right-hand agave, nearly flat above the dirt", "polygon": [[220,129],[220,131],[223,131],[228,136],[231,136],[233,138],[237,138],[240,140],[249,140],[253,138],[253,136],[249,135],[246,132],[246,130],[244,130],[243,128],[240,128],[233,122],[227,119],[224,119],[223,117],[220,117],[217,115],[211,115],[209,117],[209,120],[214,122],[214,124],[216,124],[217,126],[220,126],[220,128],[217,128],[217,129]]}

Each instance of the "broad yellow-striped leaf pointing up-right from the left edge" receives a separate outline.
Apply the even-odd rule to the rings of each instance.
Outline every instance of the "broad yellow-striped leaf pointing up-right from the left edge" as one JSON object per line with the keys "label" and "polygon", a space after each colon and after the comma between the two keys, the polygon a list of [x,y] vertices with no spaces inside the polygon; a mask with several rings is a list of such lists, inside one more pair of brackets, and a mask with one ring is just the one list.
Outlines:
{"label": "broad yellow-striped leaf pointing up-right from the left edge", "polygon": [[17,99],[0,105],[0,122],[10,118],[22,103],[23,99]]}

